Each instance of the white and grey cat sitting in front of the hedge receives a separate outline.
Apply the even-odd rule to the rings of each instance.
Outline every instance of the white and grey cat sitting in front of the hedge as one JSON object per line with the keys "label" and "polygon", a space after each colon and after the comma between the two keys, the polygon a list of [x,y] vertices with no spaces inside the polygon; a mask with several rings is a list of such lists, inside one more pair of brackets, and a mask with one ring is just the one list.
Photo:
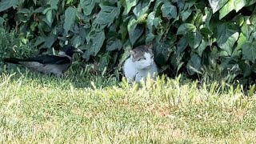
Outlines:
{"label": "white and grey cat sitting in front of the hedge", "polygon": [[155,79],[158,74],[158,66],[154,62],[152,51],[153,44],[138,46],[130,50],[130,58],[123,65],[123,74],[128,83],[146,80],[148,74]]}

